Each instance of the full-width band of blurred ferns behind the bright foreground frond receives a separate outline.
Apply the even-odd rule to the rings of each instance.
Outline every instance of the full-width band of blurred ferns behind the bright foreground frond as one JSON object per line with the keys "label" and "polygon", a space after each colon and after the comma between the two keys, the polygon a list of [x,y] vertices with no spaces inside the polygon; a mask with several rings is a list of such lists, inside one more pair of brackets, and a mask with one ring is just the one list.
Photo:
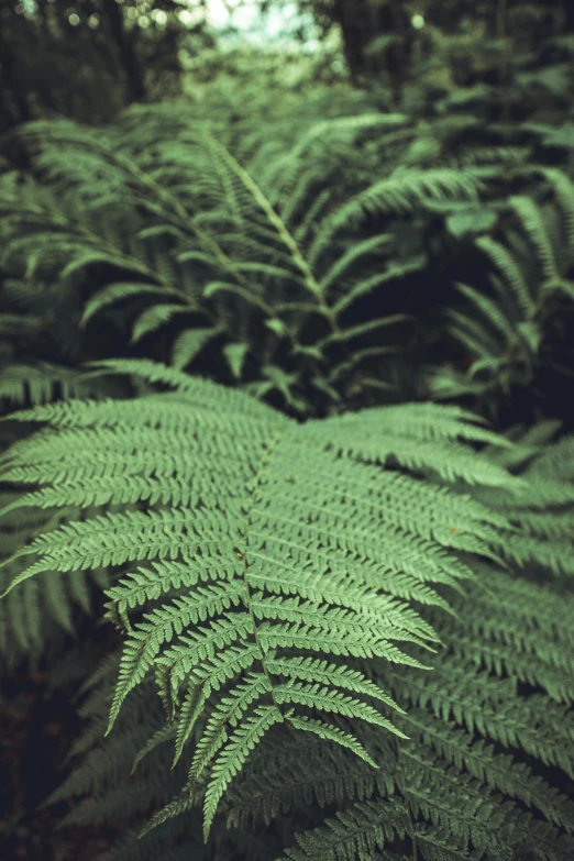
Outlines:
{"label": "full-width band of blurred ferns behind the bright foreground frond", "polygon": [[[3,265],[27,291],[48,283],[67,297],[66,349],[112,320],[128,354],[211,373],[291,415],[429,391],[496,405],[527,385],[553,297],[572,298],[567,175],[526,166],[526,147],[465,144],[470,118],[413,122],[342,100],[355,112],[317,122],[321,99],[265,132],[253,118],[230,125],[217,100],[201,120],[190,102],[133,108],[97,139],[29,124],[41,181],[1,178]],[[423,241],[437,225],[459,269],[474,245],[497,309],[463,282],[470,302],[448,309],[450,332],[473,364],[421,375],[424,310],[412,310],[429,280],[437,289],[439,249]]]}

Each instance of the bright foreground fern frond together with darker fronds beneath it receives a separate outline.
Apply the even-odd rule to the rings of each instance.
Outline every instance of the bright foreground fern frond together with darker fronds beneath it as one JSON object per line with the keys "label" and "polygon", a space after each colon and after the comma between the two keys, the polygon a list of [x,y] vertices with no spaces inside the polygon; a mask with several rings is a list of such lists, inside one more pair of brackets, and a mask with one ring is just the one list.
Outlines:
{"label": "bright foreground fern frond together with darker fronds beneath it", "polygon": [[100,372],[170,391],[15,413],[48,427],[2,459],[37,486],[4,515],[107,508],[16,550],[8,598],[122,566],[63,825],[131,823],[106,861],[566,861],[573,438],[439,405],[297,423],[165,365]]}

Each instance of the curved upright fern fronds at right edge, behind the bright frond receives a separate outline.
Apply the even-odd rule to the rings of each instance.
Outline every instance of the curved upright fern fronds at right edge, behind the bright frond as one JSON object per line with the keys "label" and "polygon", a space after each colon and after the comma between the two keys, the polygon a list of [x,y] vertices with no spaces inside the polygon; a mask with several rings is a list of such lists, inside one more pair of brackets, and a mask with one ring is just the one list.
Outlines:
{"label": "curved upright fern fronds at right edge, behind the bright frond", "polygon": [[488,295],[457,285],[466,305],[446,310],[448,330],[472,361],[464,372],[453,365],[428,371],[434,398],[477,395],[496,406],[499,393],[529,385],[545,362],[549,324],[574,298],[574,184],[550,167],[522,167],[519,174],[541,175],[553,202],[537,206],[527,195],[511,195],[506,235],[478,231],[474,244],[494,289]]}

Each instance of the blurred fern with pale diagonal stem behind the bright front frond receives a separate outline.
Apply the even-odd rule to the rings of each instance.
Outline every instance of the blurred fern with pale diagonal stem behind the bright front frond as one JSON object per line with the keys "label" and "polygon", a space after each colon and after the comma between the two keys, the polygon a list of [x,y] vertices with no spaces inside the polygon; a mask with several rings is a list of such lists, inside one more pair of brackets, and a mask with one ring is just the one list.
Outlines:
{"label": "blurred fern with pale diagonal stem behind the bright front frond", "polygon": [[[367,181],[350,159],[353,136],[382,129],[390,145],[401,131],[413,136],[405,123],[377,113],[329,121],[328,143],[341,132],[345,143],[330,154],[328,143],[317,148],[323,122],[272,157],[266,140],[233,144],[217,122],[184,120],[173,106],[132,111],[124,129],[97,142],[69,122],[30,124],[26,144],[57,198],[26,207],[5,196],[4,261],[24,256],[29,275],[48,269],[82,291],[89,267],[111,267],[82,325],[119,307],[132,344],[175,327],[174,366],[216,350],[230,382],[258,396],[275,391],[296,412],[385,390],[393,384],[378,373],[391,352],[384,335],[408,317],[365,320],[354,310],[426,258],[398,261],[383,231],[351,247],[345,234],[369,213],[402,217],[423,199],[476,200],[489,175],[476,166],[401,170],[396,158]],[[342,181],[345,174],[352,179]]]}

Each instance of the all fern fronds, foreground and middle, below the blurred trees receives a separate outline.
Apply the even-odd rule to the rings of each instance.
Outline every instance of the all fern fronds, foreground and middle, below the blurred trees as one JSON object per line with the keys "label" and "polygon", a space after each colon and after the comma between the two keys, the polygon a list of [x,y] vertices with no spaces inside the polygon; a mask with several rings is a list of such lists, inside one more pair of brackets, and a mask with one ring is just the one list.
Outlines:
{"label": "all fern fronds, foreground and middle, below the blurred trees", "polygon": [[[60,279],[85,298],[84,325],[111,311],[134,344],[177,330],[170,369],[103,365],[173,394],[23,413],[52,428],[1,459],[2,481],[20,486],[2,499],[14,587],[2,604],[22,649],[40,648],[42,589],[69,628],[90,572],[122,569],[99,585],[125,645],[102,667],[77,752],[114,732],[55,796],[92,796],[69,821],[148,819],[145,839],[107,861],[567,861],[572,442],[541,454],[542,428],[504,444],[432,405],[297,424],[179,369],[220,351],[230,380],[305,416],[321,397],[323,415],[388,386],[382,335],[405,318],[354,312],[426,265],[397,258],[388,219],[442,208],[451,236],[496,273],[499,301],[463,288],[473,309],[452,314],[452,333],[476,361],[434,394],[528,382],[552,303],[572,298],[572,184],[536,168],[552,207],[522,194],[483,207],[483,162],[500,151],[445,166],[429,129],[423,169],[400,115],[343,118],[287,147],[169,106],[124,123],[97,143],[70,123],[30,126],[55,194],[19,197],[12,177],[1,203],[4,262],[25,262],[25,289]],[[343,181],[345,134],[361,125],[408,152],[374,183],[356,165]],[[522,157],[505,162],[518,178],[532,172]],[[355,235],[378,218],[384,231]],[[48,398],[57,368],[26,379],[14,367],[14,399]],[[29,506],[43,511],[22,532]]]}

